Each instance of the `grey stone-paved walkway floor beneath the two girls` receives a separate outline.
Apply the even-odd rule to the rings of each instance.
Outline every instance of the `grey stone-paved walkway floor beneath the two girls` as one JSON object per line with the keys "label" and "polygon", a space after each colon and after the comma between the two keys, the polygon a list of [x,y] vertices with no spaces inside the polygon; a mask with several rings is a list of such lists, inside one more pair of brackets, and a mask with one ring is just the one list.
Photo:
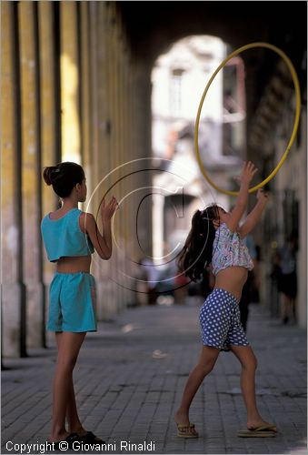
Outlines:
{"label": "grey stone-paved walkway floor beneath the two girls", "polygon": [[[84,427],[109,446],[78,446],[78,453],[306,452],[306,331],[280,326],[261,306],[251,308],[248,338],[259,361],[259,409],[277,423],[277,436],[236,436],[245,427],[240,366],[222,353],[192,406],[200,438],[176,437],[174,410],[201,349],[198,310],[196,302],[131,308],[87,335],[75,369],[77,405]],[[1,453],[46,449],[31,444],[43,444],[50,430],[55,346],[31,354],[5,359]]]}

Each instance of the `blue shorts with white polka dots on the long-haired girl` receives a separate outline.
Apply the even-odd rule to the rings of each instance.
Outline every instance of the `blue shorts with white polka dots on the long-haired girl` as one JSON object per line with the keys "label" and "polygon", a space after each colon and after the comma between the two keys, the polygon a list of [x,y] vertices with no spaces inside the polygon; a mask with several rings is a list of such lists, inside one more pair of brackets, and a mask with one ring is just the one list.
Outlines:
{"label": "blue shorts with white polka dots on the long-haired girl", "polygon": [[240,320],[239,301],[227,290],[214,288],[200,310],[204,346],[230,350],[230,346],[249,346]]}

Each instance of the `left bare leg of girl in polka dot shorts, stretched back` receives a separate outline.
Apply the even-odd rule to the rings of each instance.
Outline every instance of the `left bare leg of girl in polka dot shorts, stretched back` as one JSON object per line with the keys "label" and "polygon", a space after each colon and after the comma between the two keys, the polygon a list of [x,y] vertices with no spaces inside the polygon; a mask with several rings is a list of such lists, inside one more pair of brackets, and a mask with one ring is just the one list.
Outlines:
{"label": "left bare leg of girl in polka dot shorts, stretched back", "polygon": [[200,359],[187,379],[180,408],[175,412],[174,420],[176,423],[189,425],[189,409],[194,399],[194,395],[205,376],[214,368],[219,353],[220,349],[212,348],[210,346],[203,347]]}

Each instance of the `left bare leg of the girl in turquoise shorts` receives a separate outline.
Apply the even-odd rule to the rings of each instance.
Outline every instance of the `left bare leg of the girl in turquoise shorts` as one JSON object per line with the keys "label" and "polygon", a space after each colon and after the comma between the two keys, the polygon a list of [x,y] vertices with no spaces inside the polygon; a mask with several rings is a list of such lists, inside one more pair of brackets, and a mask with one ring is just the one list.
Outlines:
{"label": "left bare leg of the girl in turquoise shorts", "polygon": [[85,332],[55,334],[58,359],[54,379],[53,427],[50,441],[63,440],[69,434],[65,430],[65,415],[68,406],[72,415],[74,414],[75,396],[74,402],[72,402],[73,369],[84,337]]}

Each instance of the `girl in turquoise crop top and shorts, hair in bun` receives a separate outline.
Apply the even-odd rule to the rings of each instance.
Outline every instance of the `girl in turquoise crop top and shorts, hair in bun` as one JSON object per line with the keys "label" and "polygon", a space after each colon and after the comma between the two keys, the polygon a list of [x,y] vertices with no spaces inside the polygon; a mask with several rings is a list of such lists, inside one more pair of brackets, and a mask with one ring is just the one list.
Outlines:
{"label": "girl in turquoise crop top and shorts, hair in bun", "polygon": [[[53,425],[49,438],[65,440],[72,448],[75,440],[100,441],[84,430],[76,409],[73,370],[87,331],[96,330],[95,280],[90,274],[94,250],[102,259],[112,255],[111,219],[118,207],[115,197],[101,205],[104,236],[95,218],[78,209],[86,198],[84,169],[71,162],[45,167],[44,179],[62,199],[62,207],[46,215],[41,224],[47,257],[56,264],[50,285],[47,329],[55,332],[58,358],[53,393]],[[65,418],[68,431],[65,429]]]}

